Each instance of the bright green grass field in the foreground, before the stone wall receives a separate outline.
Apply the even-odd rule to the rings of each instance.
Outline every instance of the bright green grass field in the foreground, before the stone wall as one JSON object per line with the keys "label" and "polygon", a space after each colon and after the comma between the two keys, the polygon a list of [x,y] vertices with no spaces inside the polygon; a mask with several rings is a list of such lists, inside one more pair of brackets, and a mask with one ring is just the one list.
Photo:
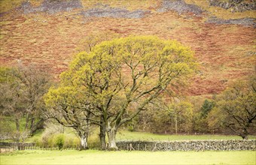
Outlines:
{"label": "bright green grass field in the foreground, before the stone wall", "polygon": [[1,164],[255,164],[255,151],[14,151]]}

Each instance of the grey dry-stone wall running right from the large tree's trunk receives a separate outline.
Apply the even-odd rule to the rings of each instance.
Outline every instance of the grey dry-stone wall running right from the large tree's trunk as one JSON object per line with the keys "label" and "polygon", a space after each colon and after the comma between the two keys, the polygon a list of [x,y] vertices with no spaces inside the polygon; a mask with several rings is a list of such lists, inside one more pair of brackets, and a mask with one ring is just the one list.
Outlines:
{"label": "grey dry-stone wall running right from the large tree's trunk", "polygon": [[191,140],[169,142],[120,141],[120,150],[138,151],[240,151],[256,150],[256,139],[251,140]]}

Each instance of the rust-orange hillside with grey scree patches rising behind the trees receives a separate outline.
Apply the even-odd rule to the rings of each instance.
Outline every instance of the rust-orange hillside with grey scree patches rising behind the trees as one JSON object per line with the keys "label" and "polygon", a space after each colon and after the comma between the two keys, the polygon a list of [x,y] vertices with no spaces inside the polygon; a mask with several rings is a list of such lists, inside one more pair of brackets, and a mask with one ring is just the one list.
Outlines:
{"label": "rust-orange hillside with grey scree patches rising behind the trees", "polygon": [[[218,3],[217,3],[218,2]],[[208,0],[0,1],[0,65],[18,60],[58,77],[96,31],[156,35],[190,46],[201,65],[190,95],[213,95],[255,71],[255,2]]]}

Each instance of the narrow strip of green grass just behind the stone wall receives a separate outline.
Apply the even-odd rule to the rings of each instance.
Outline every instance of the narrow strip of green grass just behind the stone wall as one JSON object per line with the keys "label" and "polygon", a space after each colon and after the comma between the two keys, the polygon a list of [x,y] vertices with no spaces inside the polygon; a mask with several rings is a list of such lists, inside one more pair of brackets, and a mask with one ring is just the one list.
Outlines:
{"label": "narrow strip of green grass just behind the stone wall", "polygon": [[[204,140],[204,139],[242,139],[235,135],[166,135],[145,132],[130,132],[126,130],[117,133],[117,140]],[[256,139],[256,136],[249,136],[249,139]]]}

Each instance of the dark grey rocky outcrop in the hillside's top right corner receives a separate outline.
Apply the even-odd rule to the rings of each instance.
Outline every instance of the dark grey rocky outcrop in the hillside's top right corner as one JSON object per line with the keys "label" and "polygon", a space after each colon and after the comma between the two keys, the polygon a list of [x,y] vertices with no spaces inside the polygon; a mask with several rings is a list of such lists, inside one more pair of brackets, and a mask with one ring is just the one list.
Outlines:
{"label": "dark grey rocky outcrop in the hillside's top right corner", "polygon": [[243,2],[243,0],[230,0],[230,1],[209,0],[209,5],[222,7],[226,10],[230,9],[233,12],[256,10],[255,2],[246,3],[246,2]]}

